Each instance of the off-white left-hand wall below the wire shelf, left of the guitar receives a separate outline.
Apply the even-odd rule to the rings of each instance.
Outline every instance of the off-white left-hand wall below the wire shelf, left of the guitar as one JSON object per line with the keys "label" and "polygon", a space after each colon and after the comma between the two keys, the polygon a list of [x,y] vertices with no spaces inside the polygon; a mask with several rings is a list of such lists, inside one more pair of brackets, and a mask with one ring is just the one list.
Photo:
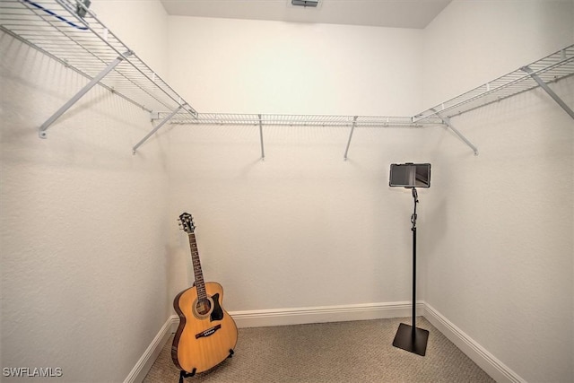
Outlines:
{"label": "off-white left-hand wall below the wire shelf, left of the guitar", "polygon": [[[145,21],[99,5],[126,29],[165,31],[157,7]],[[39,139],[87,81],[4,33],[0,44],[2,367],[123,381],[170,315],[166,142],[132,155],[149,116],[100,87]]]}

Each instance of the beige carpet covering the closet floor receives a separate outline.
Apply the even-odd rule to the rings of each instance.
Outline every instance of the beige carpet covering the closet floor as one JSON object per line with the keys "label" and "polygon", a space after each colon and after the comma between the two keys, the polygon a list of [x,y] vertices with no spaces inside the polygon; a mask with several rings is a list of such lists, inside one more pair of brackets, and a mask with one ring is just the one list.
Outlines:
{"label": "beige carpet covering the closet floor", "polygon": [[[240,328],[232,358],[185,382],[494,382],[425,318],[425,356],[394,347],[401,322],[411,319]],[[171,342],[144,383],[178,382]]]}

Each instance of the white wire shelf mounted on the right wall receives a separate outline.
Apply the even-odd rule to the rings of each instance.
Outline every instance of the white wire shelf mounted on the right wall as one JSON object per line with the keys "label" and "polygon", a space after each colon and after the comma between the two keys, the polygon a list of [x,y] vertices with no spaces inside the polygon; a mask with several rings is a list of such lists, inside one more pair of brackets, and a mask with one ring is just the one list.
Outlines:
{"label": "white wire shelf mounted on the right wall", "polygon": [[413,121],[422,122],[428,118],[455,117],[482,108],[492,102],[530,91],[538,87],[539,84],[536,83],[531,74],[526,72],[527,68],[532,71],[532,74],[540,77],[544,83],[552,83],[568,77],[574,74],[574,45],[427,109],[415,115]]}

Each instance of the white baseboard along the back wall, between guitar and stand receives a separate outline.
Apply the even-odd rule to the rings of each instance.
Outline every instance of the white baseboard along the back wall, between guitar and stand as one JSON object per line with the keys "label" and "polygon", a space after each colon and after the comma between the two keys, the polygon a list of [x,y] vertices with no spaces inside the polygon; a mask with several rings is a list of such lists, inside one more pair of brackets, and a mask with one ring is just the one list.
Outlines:
{"label": "white baseboard along the back wall, between guitar and stand", "polygon": [[[422,312],[422,309],[422,302],[418,302],[417,312]],[[230,312],[230,316],[235,320],[239,328],[401,318],[409,317],[411,314],[410,302],[362,303],[354,305],[294,309],[256,309]]]}

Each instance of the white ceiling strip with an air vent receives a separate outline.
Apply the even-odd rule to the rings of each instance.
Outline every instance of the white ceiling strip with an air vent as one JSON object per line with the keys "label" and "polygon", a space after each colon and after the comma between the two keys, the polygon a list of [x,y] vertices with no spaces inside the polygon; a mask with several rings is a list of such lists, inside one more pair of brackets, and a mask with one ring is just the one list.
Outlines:
{"label": "white ceiling strip with an air vent", "polygon": [[291,0],[161,0],[173,16],[425,28],[452,0],[319,0],[314,7]]}

